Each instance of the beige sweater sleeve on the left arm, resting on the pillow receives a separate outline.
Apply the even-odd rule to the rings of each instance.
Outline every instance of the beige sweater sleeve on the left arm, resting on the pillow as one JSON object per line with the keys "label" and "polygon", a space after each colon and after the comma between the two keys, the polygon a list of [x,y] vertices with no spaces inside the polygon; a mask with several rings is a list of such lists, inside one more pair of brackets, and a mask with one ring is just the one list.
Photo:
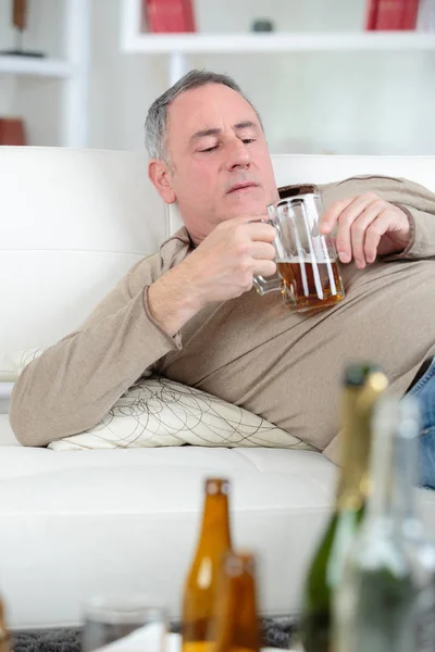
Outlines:
{"label": "beige sweater sleeve on the left arm, resting on the pillow", "polygon": [[47,446],[95,426],[154,362],[181,349],[179,334],[171,338],[148,309],[153,262],[135,265],[79,329],[23,369],[10,409],[23,446]]}

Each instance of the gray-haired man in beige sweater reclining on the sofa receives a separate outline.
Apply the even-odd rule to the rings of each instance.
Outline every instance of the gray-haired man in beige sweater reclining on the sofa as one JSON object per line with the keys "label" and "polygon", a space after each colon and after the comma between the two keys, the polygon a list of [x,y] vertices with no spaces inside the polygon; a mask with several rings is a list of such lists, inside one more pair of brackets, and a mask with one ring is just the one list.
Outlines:
{"label": "gray-haired man in beige sweater reclining on the sofa", "polygon": [[191,71],[150,108],[146,142],[149,177],[166,203],[177,202],[185,228],[24,369],[10,413],[18,440],[45,446],[92,427],[154,372],[251,410],[338,461],[343,366],[375,361],[402,396],[435,353],[435,197],[387,177],[320,188],[321,228],[337,227],[347,296],[297,314],[252,289],[253,275],[276,271],[275,229],[261,218],[278,191],[259,115],[238,86]]}

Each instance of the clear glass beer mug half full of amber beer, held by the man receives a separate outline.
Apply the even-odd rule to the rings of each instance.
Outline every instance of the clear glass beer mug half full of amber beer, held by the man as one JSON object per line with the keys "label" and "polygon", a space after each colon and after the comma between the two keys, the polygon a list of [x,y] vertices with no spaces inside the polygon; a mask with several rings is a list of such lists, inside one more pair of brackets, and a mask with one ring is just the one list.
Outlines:
{"label": "clear glass beer mug half full of amber beer, held by the man", "polygon": [[345,297],[339,263],[331,235],[319,233],[324,209],[320,195],[308,192],[268,206],[276,228],[274,247],[278,276],[253,278],[259,294],[281,290],[284,303],[296,312],[331,308]]}

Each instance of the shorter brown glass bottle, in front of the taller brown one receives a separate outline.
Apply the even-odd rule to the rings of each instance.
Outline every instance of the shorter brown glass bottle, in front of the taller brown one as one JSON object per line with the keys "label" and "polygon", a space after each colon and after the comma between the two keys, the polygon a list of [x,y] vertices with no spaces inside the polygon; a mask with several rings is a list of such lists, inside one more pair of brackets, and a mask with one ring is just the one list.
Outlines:
{"label": "shorter brown glass bottle, in front of the taller brown one", "polygon": [[226,553],[217,585],[211,652],[259,652],[256,584],[254,556]]}

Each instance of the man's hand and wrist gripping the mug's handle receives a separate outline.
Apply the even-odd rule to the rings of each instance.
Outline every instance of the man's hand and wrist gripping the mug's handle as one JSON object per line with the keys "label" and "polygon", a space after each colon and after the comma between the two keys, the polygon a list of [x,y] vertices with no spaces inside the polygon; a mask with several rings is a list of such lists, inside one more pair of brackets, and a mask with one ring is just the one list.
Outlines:
{"label": "man's hand and wrist gripping the mug's handle", "polygon": [[222,222],[183,263],[149,288],[151,314],[169,335],[175,335],[208,303],[249,291],[253,276],[275,274],[272,242],[276,230],[261,218]]}

